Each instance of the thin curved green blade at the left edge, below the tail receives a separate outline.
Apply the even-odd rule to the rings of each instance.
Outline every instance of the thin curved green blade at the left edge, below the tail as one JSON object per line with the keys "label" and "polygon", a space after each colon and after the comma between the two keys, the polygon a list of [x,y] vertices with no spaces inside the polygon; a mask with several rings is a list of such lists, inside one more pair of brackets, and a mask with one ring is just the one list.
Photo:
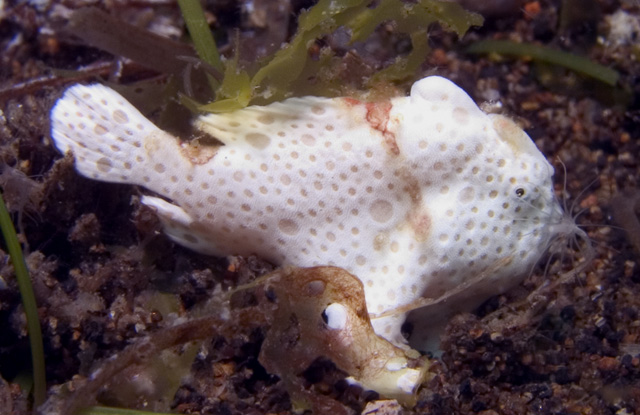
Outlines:
{"label": "thin curved green blade at the left edge, below the tail", "polygon": [[18,236],[1,193],[0,228],[2,228],[2,235],[7,243],[9,256],[11,257],[18,287],[20,288],[22,306],[27,316],[27,330],[29,343],[31,344],[31,362],[33,365],[33,403],[34,407],[37,408],[44,402],[47,393],[44,348],[42,346],[42,330],[40,329],[40,319],[38,318],[38,306],[36,305],[36,297],[33,294],[33,286],[31,285],[29,271],[27,271],[27,264],[24,262]]}

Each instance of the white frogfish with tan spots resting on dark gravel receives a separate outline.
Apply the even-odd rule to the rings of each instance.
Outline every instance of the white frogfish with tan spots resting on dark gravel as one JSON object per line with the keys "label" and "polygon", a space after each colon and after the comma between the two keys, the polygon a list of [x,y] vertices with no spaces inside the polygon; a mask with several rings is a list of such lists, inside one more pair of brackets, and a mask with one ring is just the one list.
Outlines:
{"label": "white frogfish with tan spots resting on dark gravel", "polygon": [[421,316],[428,327],[505,291],[563,216],[553,167],[526,133],[437,76],[382,102],[291,98],[195,126],[222,144],[181,141],[115,91],[76,85],[53,108],[51,135],[84,176],[155,192],[142,203],[180,245],[345,268],[395,344],[406,310],[393,310],[484,275],[482,289]]}

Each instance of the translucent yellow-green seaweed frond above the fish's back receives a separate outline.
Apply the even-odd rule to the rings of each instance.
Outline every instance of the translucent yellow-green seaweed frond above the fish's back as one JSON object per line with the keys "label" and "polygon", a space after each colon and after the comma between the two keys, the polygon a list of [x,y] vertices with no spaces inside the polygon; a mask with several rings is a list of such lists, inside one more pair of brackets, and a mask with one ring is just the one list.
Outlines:
{"label": "translucent yellow-green seaweed frond above the fish's back", "polygon": [[314,93],[341,95],[344,93],[341,83],[331,76],[334,71],[327,70],[336,65],[334,53],[329,48],[323,48],[317,59],[312,59],[309,48],[316,40],[332,34],[340,27],[350,31],[350,43],[363,41],[380,24],[389,21],[395,23],[398,33],[409,36],[412,49],[407,56],[397,58],[371,76],[369,85],[381,81],[396,82],[413,76],[428,53],[427,29],[431,23],[440,22],[462,36],[470,26],[481,25],[482,17],[465,11],[456,3],[436,0],[419,0],[415,4],[382,0],[374,5],[369,0],[320,0],[302,13],[298,31],[291,42],[266,58],[256,70],[239,68],[237,59],[227,62],[225,77],[216,91],[215,101],[199,109],[205,112],[232,111],[257,98],[261,103],[268,104],[309,93],[310,77],[314,78]]}

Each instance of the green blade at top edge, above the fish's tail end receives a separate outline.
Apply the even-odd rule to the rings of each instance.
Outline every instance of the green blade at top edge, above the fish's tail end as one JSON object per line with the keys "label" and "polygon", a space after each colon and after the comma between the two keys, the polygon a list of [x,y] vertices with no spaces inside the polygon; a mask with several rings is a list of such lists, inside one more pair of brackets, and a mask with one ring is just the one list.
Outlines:
{"label": "green blade at top edge, above the fish's tail end", "polygon": [[[216,47],[215,39],[211,34],[211,29],[204,17],[204,10],[199,0],[178,0],[182,17],[187,25],[193,45],[198,52],[200,59],[213,66],[220,72],[224,72],[224,66]],[[213,77],[209,77],[209,83],[212,87],[217,87],[218,81]]]}

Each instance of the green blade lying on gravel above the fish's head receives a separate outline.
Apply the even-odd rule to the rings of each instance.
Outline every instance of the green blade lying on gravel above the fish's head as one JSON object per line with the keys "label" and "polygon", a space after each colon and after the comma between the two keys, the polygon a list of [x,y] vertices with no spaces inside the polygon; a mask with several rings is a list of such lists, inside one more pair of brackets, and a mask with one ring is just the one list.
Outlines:
{"label": "green blade lying on gravel above the fish's head", "polygon": [[483,40],[469,46],[467,52],[530,57],[540,62],[563,66],[611,86],[616,85],[620,76],[617,71],[597,64],[585,57],[530,43],[517,43],[508,40]]}

